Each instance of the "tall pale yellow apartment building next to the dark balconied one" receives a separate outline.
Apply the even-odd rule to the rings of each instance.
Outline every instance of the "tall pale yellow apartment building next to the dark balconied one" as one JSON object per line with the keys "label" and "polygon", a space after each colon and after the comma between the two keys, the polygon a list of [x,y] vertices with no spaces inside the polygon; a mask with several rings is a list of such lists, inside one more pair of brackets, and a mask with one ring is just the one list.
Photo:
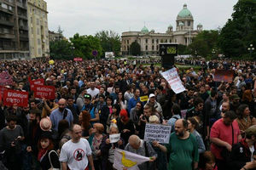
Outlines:
{"label": "tall pale yellow apartment building next to the dark balconied one", "polygon": [[29,48],[31,58],[49,56],[47,3],[44,0],[27,2]]}

